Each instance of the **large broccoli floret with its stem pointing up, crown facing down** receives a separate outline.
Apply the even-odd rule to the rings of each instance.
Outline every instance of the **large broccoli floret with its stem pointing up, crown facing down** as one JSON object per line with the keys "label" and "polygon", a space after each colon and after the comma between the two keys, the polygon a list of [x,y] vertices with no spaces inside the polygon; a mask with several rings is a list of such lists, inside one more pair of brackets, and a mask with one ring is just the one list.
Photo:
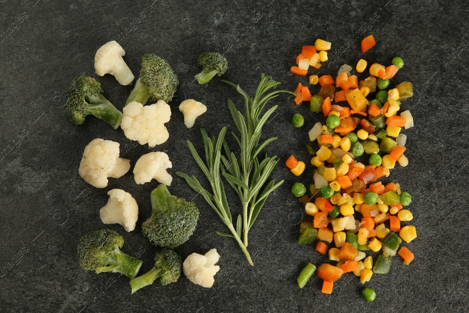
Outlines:
{"label": "large broccoli floret with its stem pointing up, crown facing down", "polygon": [[172,196],[166,185],[151,191],[151,217],[142,224],[142,232],[156,246],[174,248],[186,242],[194,232],[199,210],[194,202]]}

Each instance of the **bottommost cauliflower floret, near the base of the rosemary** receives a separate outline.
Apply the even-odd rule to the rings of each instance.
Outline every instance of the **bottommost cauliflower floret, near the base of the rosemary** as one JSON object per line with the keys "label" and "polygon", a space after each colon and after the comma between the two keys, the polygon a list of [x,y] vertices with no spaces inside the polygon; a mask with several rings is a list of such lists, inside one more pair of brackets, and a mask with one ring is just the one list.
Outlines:
{"label": "bottommost cauliflower floret, near the base of the rosemary", "polygon": [[205,255],[192,253],[182,263],[184,275],[189,281],[210,288],[215,282],[213,276],[220,270],[220,267],[215,265],[219,258],[220,255],[217,253],[217,249],[212,249]]}

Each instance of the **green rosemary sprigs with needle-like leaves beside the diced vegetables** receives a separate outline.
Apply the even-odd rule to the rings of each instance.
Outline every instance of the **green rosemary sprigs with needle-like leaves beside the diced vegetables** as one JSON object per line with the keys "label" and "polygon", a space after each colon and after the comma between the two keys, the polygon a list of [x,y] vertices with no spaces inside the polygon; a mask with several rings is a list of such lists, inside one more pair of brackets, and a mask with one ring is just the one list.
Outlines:
{"label": "green rosemary sprigs with needle-like leaves beside the diced vegetables", "polygon": [[[271,76],[265,76],[264,74],[261,76],[254,99],[250,98],[239,85],[226,80],[222,81],[236,87],[236,90],[244,97],[246,118],[236,109],[234,103],[228,99],[228,108],[241,135],[240,139],[232,132],[240,147],[241,155],[238,159],[229,149],[225,140],[226,127],[222,128],[218,138],[209,138],[205,130],[201,129],[204,138],[206,164],[202,161],[194,145],[189,140],[188,145],[192,156],[207,177],[213,194],[206,191],[195,176],[189,177],[181,172],[176,172],[176,175],[183,177],[192,189],[204,196],[205,200],[212,206],[223,223],[231,231],[231,234],[218,231],[217,234],[233,237],[246,255],[249,264],[254,265],[247,250],[249,229],[256,220],[262,206],[264,206],[267,197],[283,183],[283,180],[275,183],[273,179],[267,182],[273,168],[279,161],[277,156],[267,157],[267,154],[265,154],[265,158],[261,162],[257,158],[265,146],[277,139],[276,137],[271,137],[259,145],[262,127],[278,106],[271,107],[260,118],[259,115],[267,101],[277,97],[280,92],[294,93],[286,90],[277,90],[264,96],[271,88],[275,89],[280,84],[280,82],[273,80]],[[222,146],[226,156],[221,154]],[[233,187],[234,191],[236,191],[242,203],[242,216],[241,214],[238,215],[236,229],[233,225],[220,173]]]}

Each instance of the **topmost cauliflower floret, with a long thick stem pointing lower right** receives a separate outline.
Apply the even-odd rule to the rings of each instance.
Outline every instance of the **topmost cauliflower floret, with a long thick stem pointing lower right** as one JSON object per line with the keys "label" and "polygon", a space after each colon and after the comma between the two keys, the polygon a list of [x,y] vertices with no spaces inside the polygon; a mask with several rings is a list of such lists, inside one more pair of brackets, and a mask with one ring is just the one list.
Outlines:
{"label": "topmost cauliflower floret, with a long thick stem pointing lower right", "polygon": [[122,59],[124,55],[124,49],[115,40],[101,46],[94,56],[96,74],[99,76],[111,74],[117,79],[119,84],[131,84],[135,77],[124,59]]}

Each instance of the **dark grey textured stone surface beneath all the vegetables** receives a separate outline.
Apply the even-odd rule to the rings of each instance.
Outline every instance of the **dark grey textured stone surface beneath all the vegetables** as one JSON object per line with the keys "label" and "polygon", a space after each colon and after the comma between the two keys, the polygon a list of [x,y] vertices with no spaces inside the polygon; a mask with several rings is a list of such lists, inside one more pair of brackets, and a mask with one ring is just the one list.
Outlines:
{"label": "dark grey textured stone surface beneath all the vegetables", "polygon": [[[467,1],[36,1],[0,1],[0,33],[23,12],[27,15],[0,43],[0,150],[7,149],[0,160],[1,312],[467,312]],[[262,16],[253,23],[257,13]],[[127,33],[139,16],[144,17],[137,28]],[[252,25],[254,29],[244,33],[243,27]],[[366,28],[356,40],[354,34]],[[361,38],[369,34],[377,45],[362,54]],[[374,302],[361,298],[363,286],[352,274],[336,282],[332,296],[320,292],[322,282],[316,275],[302,290],[296,284],[308,261],[319,265],[326,258],[314,246],[296,241],[295,224],[302,218],[302,208],[289,189],[297,180],[309,184],[312,167],[296,178],[283,162],[294,153],[308,163],[303,143],[311,126],[324,117],[311,113],[308,106],[295,107],[286,94],[271,101],[270,105],[279,105],[278,115],[264,128],[265,136],[279,137],[267,152],[280,157],[272,176],[285,183],[270,197],[250,232],[255,267],[247,266],[232,239],[215,234],[227,229],[204,199],[195,197],[175,175],[170,191],[195,197],[201,211],[196,232],[176,250],[185,258],[218,249],[221,270],[212,289],[182,276],[164,288],[157,283],[131,295],[127,278],[95,275],[78,267],[76,244],[93,229],[119,231],[125,237],[123,251],[144,260],[142,273],[152,267],[155,251],[140,227],[150,215],[150,191],[156,181],[136,185],[130,171],[97,189],[78,176],[83,149],[96,137],[119,142],[121,156],[132,165],[149,151],[96,118],[88,117],[76,127],[64,116],[64,91],[78,75],[97,78],[106,98],[120,109],[124,105],[132,87],[94,72],[99,46],[120,40],[127,53],[124,59],[136,76],[146,52],[171,64],[180,85],[166,124],[170,139],[151,151],[169,155],[171,173],[180,170],[202,179],[185,141],[190,139],[201,149],[199,127],[210,134],[222,126],[234,130],[227,98],[242,108],[242,97],[218,76],[207,86],[194,83],[198,54],[224,53],[230,67],[224,78],[251,95],[261,72],[294,90],[307,80],[292,75],[289,68],[301,46],[313,45],[316,38],[333,42],[323,74],[335,76],[340,65],[355,67],[362,57],[369,64],[389,65],[400,55],[405,66],[392,86],[401,81],[414,84],[414,97],[402,104],[403,110],[411,110],[416,125],[404,131],[409,165],[396,165],[384,181],[401,183],[413,196],[409,209],[418,238],[407,246],[416,259],[404,266],[397,256],[389,274],[373,275],[365,286],[376,290]],[[317,91],[318,87],[311,88]],[[190,130],[177,109],[186,98],[208,107]],[[301,129],[290,122],[296,112],[306,117]],[[18,136],[23,139],[17,141]],[[140,206],[137,228],[131,233],[117,224],[104,226],[99,219],[106,192],[113,188],[129,191]],[[240,205],[233,194],[229,201],[232,212],[237,212]],[[116,281],[111,284],[112,279]]]}

